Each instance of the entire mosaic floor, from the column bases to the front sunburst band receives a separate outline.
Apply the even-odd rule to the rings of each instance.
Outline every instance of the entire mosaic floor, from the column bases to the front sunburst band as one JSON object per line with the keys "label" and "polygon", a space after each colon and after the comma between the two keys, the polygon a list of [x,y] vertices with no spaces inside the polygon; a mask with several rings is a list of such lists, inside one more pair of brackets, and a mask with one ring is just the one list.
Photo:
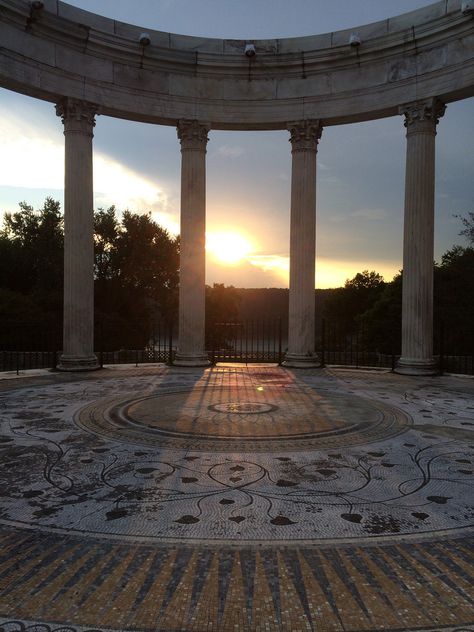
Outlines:
{"label": "entire mosaic floor, from the column bases to the front sunburst band", "polygon": [[2,632],[474,630],[472,379],[3,374],[0,415]]}

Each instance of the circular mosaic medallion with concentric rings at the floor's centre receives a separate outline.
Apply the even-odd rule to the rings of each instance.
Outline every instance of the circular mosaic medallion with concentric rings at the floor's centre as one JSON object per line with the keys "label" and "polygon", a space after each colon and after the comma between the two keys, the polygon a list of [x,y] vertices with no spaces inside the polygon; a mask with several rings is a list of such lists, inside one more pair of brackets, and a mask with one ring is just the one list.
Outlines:
{"label": "circular mosaic medallion with concentric rings at the floor's centre", "polygon": [[195,387],[95,401],[76,414],[89,431],[183,450],[307,450],[394,436],[407,415],[374,400],[298,386]]}

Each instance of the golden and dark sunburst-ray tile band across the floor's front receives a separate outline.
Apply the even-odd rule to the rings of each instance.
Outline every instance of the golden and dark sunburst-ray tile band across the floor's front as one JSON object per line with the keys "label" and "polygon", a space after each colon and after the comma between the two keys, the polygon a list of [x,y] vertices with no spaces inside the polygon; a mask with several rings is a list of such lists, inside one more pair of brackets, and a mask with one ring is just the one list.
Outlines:
{"label": "golden and dark sunburst-ray tile band across the floor's front", "polygon": [[245,631],[418,630],[474,621],[468,538],[195,548],[4,532],[1,544],[3,617]]}

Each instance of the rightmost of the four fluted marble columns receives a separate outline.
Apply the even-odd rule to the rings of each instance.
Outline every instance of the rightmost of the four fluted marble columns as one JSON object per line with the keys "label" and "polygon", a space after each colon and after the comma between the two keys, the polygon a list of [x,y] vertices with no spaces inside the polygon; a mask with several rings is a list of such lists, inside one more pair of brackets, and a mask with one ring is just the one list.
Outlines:
{"label": "rightmost of the four fluted marble columns", "polygon": [[436,125],[445,106],[430,99],[400,108],[407,129],[403,237],[402,355],[397,373],[434,375],[433,259]]}

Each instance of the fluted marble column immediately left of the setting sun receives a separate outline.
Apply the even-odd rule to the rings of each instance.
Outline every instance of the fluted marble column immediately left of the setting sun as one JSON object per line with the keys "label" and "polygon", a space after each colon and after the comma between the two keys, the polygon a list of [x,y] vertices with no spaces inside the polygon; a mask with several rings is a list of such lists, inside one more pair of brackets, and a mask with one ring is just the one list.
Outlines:
{"label": "fluted marble column immediately left of the setting sun", "polygon": [[206,145],[209,127],[180,121],[181,243],[179,341],[174,364],[207,366],[205,349]]}

